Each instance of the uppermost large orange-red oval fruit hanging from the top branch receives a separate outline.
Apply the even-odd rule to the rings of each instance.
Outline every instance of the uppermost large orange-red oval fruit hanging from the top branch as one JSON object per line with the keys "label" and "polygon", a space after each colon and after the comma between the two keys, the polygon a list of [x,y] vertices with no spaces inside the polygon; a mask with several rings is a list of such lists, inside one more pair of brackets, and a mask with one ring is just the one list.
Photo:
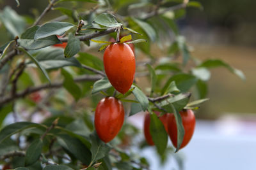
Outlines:
{"label": "uppermost large orange-red oval fruit hanging from the top branch", "polygon": [[107,46],[103,62],[111,85],[118,92],[125,94],[131,88],[136,67],[134,53],[129,45],[113,43]]}

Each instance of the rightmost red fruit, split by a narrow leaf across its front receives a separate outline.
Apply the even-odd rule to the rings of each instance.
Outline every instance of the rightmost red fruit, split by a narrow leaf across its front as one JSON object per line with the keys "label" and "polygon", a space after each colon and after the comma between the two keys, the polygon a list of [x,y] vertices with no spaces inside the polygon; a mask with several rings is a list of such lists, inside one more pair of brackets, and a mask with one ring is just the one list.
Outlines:
{"label": "rightmost red fruit, split by a narrow leaf across its front", "polygon": [[[182,110],[179,113],[185,129],[184,138],[180,145],[181,149],[184,148],[184,146],[188,145],[190,139],[192,138],[195,130],[196,119],[192,110]],[[168,116],[168,134],[170,136],[173,146],[177,148],[177,125],[173,113]]]}

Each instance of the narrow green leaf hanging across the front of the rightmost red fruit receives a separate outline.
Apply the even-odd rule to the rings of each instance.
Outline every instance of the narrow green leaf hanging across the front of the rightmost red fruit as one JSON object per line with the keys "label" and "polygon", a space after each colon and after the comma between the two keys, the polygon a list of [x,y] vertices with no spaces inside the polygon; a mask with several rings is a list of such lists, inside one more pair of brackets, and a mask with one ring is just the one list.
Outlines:
{"label": "narrow green leaf hanging across the front of the rightmost red fruit", "polygon": [[182,118],[180,117],[179,111],[177,111],[177,109],[173,106],[173,104],[171,104],[171,106],[172,106],[172,110],[173,110],[176,125],[177,125],[177,148],[175,152],[178,152],[185,135],[185,129],[182,124]]}

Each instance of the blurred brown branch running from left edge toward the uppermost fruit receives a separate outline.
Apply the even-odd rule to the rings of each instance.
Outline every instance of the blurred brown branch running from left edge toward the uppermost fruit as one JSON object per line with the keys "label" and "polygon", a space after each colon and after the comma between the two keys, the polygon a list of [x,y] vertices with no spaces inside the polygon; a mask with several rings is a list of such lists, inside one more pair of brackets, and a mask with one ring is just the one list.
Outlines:
{"label": "blurred brown branch running from left edge toward the uppermost fruit", "polygon": [[[79,76],[77,78],[74,78],[74,81],[76,82],[81,82],[81,81],[97,81],[100,80],[102,76],[100,75],[84,75],[84,76]],[[5,103],[8,103],[10,101],[14,101],[15,99],[19,99],[21,97],[25,97],[28,94],[31,94],[33,92],[38,92],[40,90],[44,89],[52,89],[52,88],[60,88],[63,86],[63,81],[61,82],[56,82],[56,83],[45,83],[43,85],[38,85],[36,87],[28,87],[26,90],[23,90],[22,92],[18,92],[15,94],[15,96],[6,96],[0,98],[0,106],[2,106]]]}

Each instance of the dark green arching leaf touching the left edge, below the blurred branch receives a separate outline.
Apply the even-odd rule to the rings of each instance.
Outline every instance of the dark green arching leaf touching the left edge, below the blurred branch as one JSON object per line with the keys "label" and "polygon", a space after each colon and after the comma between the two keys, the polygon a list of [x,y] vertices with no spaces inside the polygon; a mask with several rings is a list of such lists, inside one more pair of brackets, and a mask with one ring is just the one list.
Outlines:
{"label": "dark green arching leaf touching the left edge, below the blurred branch", "polygon": [[40,129],[46,129],[43,125],[35,124],[31,122],[17,122],[14,124],[7,125],[0,131],[0,143],[12,136],[13,134],[16,134],[18,132],[24,131],[25,129],[29,129],[32,127],[40,128]]}

